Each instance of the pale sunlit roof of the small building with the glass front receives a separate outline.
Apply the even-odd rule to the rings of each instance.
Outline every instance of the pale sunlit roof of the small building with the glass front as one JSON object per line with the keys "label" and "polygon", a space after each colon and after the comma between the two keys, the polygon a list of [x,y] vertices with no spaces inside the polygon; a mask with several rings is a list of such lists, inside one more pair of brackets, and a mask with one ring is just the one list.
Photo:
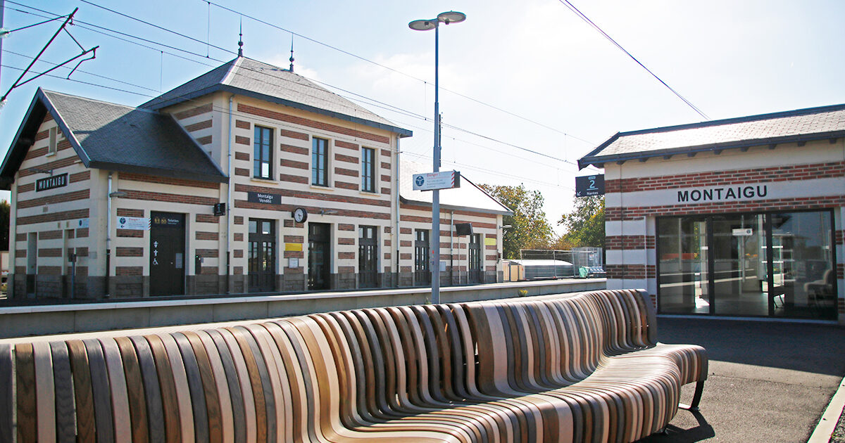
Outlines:
{"label": "pale sunlit roof of the small building with the glass front", "polygon": [[578,160],[578,166],[601,167],[608,161],[807,142],[842,136],[845,136],[845,105],[820,106],[689,125],[617,132],[597,149]]}

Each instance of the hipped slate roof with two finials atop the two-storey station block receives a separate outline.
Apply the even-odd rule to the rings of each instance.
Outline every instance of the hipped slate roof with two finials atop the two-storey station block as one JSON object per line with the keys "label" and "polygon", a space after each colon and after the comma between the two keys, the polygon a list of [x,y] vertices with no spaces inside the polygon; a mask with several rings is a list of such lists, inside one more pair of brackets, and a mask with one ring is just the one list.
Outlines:
{"label": "hipped slate roof with two finials atop the two-storey station block", "polygon": [[396,127],[394,123],[297,73],[247,57],[237,57],[140,107],[159,110],[216,91],[247,95],[303,111],[386,129],[400,134],[401,137],[412,135],[411,131]]}

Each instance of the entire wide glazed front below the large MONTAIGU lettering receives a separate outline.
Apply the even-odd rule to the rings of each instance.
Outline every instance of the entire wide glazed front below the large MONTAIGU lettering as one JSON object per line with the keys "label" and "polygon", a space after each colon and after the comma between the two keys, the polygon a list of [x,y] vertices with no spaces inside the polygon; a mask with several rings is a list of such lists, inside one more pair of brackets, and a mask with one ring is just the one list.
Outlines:
{"label": "entire wide glazed front below the large MONTAIGU lettering", "polygon": [[829,210],[657,219],[658,309],[836,319],[833,242]]}

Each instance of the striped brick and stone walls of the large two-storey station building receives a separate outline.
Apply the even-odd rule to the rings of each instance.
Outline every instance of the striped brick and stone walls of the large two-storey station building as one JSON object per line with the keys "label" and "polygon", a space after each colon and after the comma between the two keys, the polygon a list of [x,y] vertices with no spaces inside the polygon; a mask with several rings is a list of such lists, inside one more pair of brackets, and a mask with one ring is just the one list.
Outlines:
{"label": "striped brick and stone walls of the large two-storey station building", "polygon": [[[210,92],[155,112],[172,117],[195,143],[191,149],[200,149],[221,171],[220,180],[143,167],[86,167],[81,151],[70,149],[68,140],[75,135],[65,133],[69,124],[57,124],[49,110],[41,122],[25,122],[37,125],[35,137],[29,144],[16,142],[22,162],[17,170],[4,171],[14,175],[14,180],[8,178],[11,297],[156,295],[159,282],[151,277],[151,267],[157,250],[150,227],[155,213],[183,216],[184,249],[177,267],[184,282],[179,294],[254,292],[258,286],[251,277],[256,266],[270,267],[269,277],[261,280],[263,292],[308,290],[312,224],[321,224],[328,232],[329,253],[321,264],[328,267],[324,289],[363,286],[359,276],[363,228],[377,233],[371,241],[377,251],[377,271],[367,286],[419,283],[408,278],[414,247],[406,229],[425,223],[430,229],[431,209],[400,204],[399,180],[411,178],[397,176],[399,143],[410,132],[229,92]],[[263,178],[255,174],[256,127],[270,134],[270,176]],[[55,153],[48,152],[51,132],[61,134]],[[313,183],[315,138],[327,142],[324,185]],[[120,143],[119,137],[114,143]],[[85,148],[85,142],[81,145]],[[371,149],[368,153],[374,157],[372,192],[361,188],[364,149]],[[52,176],[68,174],[66,185],[36,191],[36,181],[46,177],[45,171]],[[264,200],[257,201],[257,195]],[[226,215],[214,215],[217,203],[226,203]],[[308,213],[305,223],[293,219],[297,208]],[[122,228],[122,219],[146,220],[149,226]],[[450,223],[472,222],[482,242],[494,239],[482,246],[478,279],[482,283],[500,280],[496,269],[501,219],[501,213],[484,210],[446,209],[441,214],[441,255],[447,260],[454,254],[455,272],[445,274],[452,275],[454,284],[467,280],[466,237],[462,242],[455,237],[450,245]],[[271,233],[255,240],[250,230],[261,221],[270,222]],[[259,243],[266,257],[255,257]],[[74,254],[75,267],[69,262]]]}

